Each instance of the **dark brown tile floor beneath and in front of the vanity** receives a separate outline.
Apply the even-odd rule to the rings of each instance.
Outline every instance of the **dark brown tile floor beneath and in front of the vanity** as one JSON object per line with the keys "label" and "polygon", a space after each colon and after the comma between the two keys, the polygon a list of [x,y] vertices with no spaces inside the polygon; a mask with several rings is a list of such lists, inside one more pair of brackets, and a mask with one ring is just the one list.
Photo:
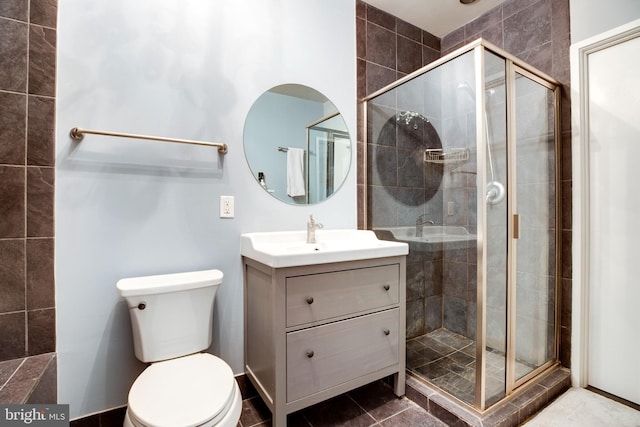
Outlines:
{"label": "dark brown tile floor beneath and in front of the vanity", "polygon": [[[271,413],[260,397],[244,400],[239,425],[271,426]],[[406,397],[397,398],[385,382],[376,381],[290,414],[287,426],[446,427],[446,424]]]}

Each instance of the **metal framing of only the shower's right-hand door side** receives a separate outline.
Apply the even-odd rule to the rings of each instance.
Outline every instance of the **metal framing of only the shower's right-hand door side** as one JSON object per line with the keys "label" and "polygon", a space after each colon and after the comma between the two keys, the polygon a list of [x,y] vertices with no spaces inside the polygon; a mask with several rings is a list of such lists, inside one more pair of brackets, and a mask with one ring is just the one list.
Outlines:
{"label": "metal framing of only the shower's right-hand door side", "polygon": [[[531,379],[537,377],[542,372],[558,365],[559,349],[560,349],[560,275],[561,266],[558,248],[560,248],[560,221],[562,218],[562,204],[560,203],[560,180],[561,180],[561,159],[560,159],[560,83],[550,76],[544,74],[530,65],[520,61],[513,55],[492,45],[485,40],[478,40],[477,46],[471,47],[475,49],[475,83],[476,88],[482,88],[485,79],[485,50],[502,57],[505,60],[505,86],[506,86],[506,116],[507,116],[507,326],[506,326],[506,364],[505,364],[505,398],[508,398],[519,387],[527,384]],[[456,52],[454,52],[456,53]],[[458,52],[456,57],[462,52]],[[517,260],[517,241],[520,234],[520,220],[517,212],[517,137],[516,137],[516,75],[520,74],[530,80],[535,81],[541,86],[553,91],[554,95],[554,158],[555,158],[555,319],[554,319],[554,355],[547,362],[538,368],[529,372],[521,378],[516,378],[516,260]],[[484,88],[483,88],[484,89]],[[485,90],[476,91],[476,105],[485,106],[486,96]],[[476,151],[478,165],[485,167],[478,169],[477,194],[485,193],[487,183],[486,170],[486,147],[487,129],[484,115],[485,107],[476,108]],[[512,190],[514,189],[514,190]],[[486,363],[485,363],[485,347],[486,347],[486,291],[487,291],[487,242],[485,232],[487,230],[486,215],[487,200],[485,197],[477,197],[477,249],[478,249],[478,287],[477,287],[477,338],[476,338],[476,401],[475,409],[484,412],[486,406]],[[480,366],[480,369],[478,369]],[[504,399],[500,401],[504,401]]]}

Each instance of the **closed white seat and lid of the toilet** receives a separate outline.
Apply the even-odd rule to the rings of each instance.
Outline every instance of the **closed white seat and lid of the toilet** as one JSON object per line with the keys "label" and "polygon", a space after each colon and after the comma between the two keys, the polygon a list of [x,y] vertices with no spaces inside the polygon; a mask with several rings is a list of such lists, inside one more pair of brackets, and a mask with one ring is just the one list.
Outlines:
{"label": "closed white seat and lid of the toilet", "polygon": [[148,427],[212,426],[239,399],[229,365],[209,353],[151,364],[129,391],[133,424]]}

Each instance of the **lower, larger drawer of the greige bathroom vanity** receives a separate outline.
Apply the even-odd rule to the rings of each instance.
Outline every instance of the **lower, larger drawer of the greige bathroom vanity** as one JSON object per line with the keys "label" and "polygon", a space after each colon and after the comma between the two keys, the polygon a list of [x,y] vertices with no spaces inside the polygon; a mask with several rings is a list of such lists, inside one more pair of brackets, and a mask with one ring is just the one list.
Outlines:
{"label": "lower, larger drawer of the greige bathroom vanity", "polygon": [[399,310],[287,334],[287,402],[398,363]]}

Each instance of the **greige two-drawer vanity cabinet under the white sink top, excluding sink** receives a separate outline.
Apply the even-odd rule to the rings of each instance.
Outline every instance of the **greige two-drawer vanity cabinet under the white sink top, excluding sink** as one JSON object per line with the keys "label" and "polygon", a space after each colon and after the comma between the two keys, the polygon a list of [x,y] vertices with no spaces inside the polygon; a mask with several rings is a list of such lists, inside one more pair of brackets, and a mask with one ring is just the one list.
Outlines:
{"label": "greige two-drawer vanity cabinet under the white sink top, excluding sink", "polygon": [[405,262],[272,268],[243,257],[245,372],[274,426],[389,375],[404,395]]}

